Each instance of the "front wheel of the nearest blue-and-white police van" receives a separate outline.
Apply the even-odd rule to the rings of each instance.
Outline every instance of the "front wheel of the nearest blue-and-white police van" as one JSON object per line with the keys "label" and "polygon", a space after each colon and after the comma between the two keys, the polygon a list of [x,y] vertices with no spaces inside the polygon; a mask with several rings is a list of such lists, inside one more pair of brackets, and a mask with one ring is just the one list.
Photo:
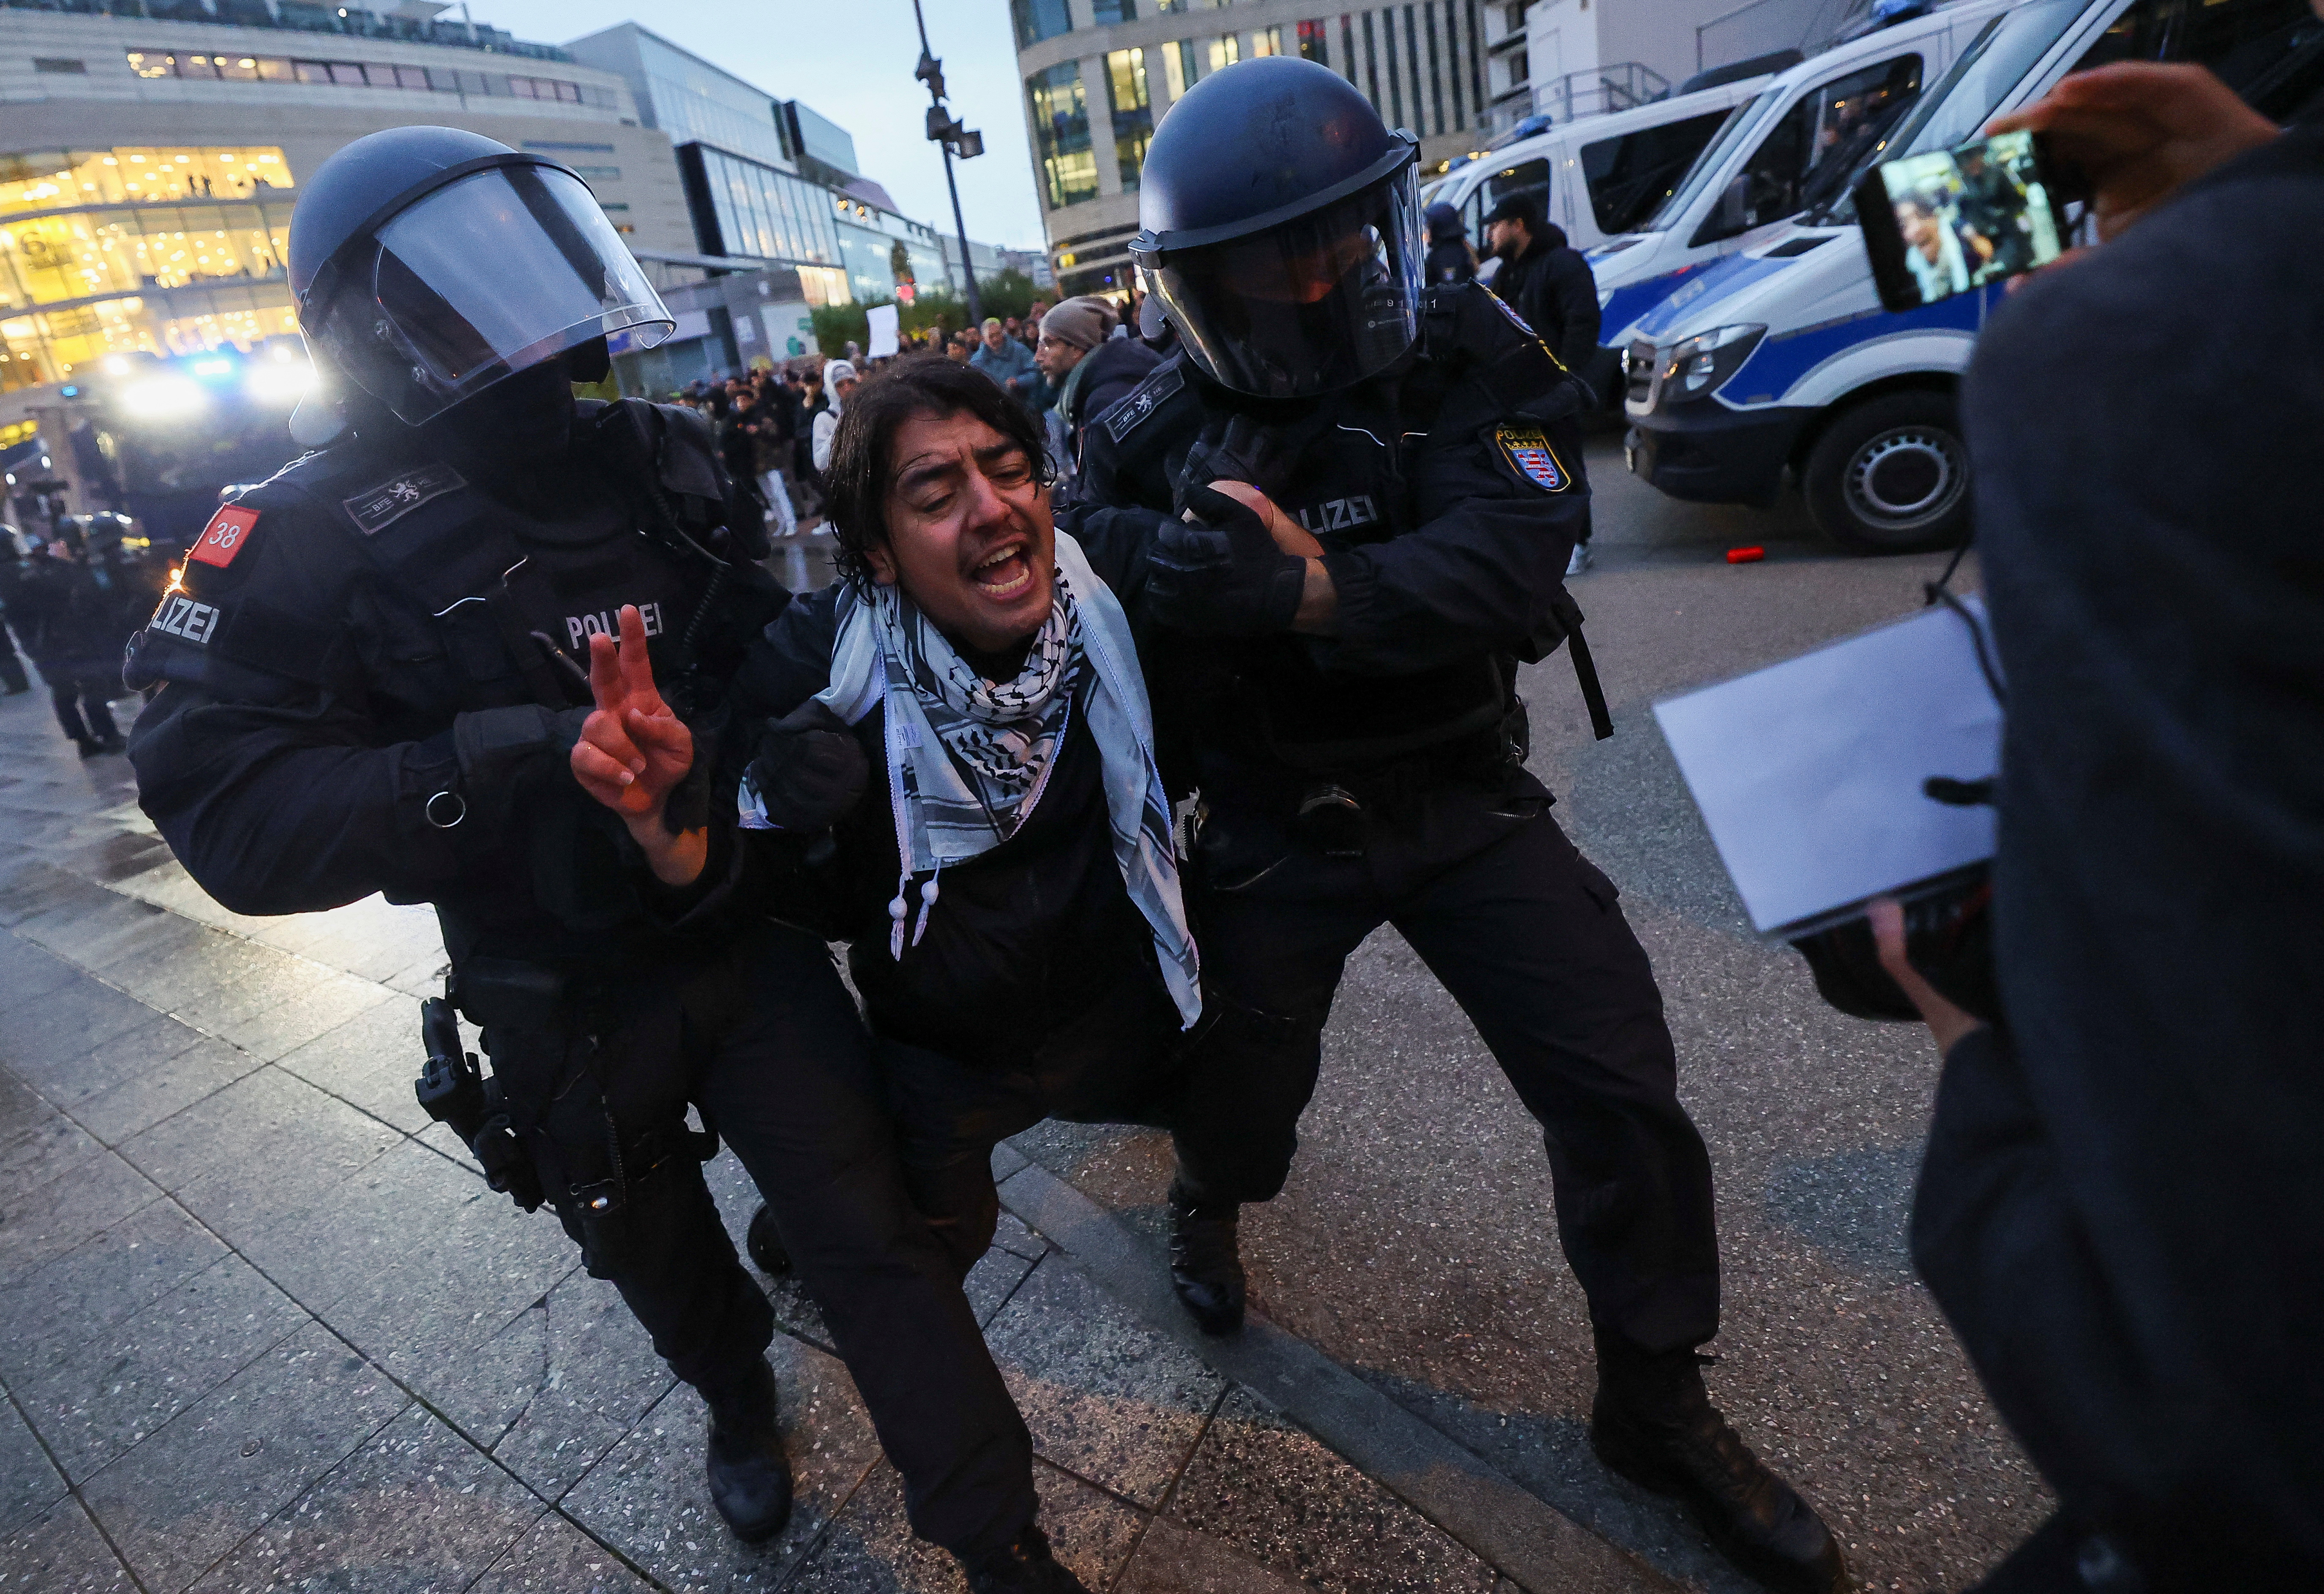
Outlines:
{"label": "front wheel of the nearest blue-and-white police van", "polygon": [[1950,548],[1968,530],[1968,448],[1943,393],[1887,393],[1843,411],[1801,469],[1808,514],[1857,553]]}

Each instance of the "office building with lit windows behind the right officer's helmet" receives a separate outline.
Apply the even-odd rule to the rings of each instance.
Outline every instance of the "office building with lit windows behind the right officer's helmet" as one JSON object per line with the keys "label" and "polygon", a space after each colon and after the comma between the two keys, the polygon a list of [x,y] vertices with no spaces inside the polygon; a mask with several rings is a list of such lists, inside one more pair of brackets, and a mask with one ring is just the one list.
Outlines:
{"label": "office building with lit windows behind the right officer's helmet", "polygon": [[1339,72],[1387,125],[1420,137],[1429,165],[1476,149],[1490,107],[1487,9],[1497,7],[1011,0],[1057,290],[1127,290],[1146,142],[1178,95],[1236,60],[1301,56]]}

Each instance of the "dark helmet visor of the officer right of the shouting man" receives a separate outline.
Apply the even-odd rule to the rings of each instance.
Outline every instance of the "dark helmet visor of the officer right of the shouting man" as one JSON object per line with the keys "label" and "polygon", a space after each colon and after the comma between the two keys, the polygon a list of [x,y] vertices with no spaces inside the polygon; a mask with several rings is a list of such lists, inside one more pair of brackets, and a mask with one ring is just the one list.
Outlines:
{"label": "dark helmet visor of the officer right of the shouting man", "polygon": [[1236,393],[1299,397],[1385,369],[1420,335],[1418,170],[1250,237],[1141,260],[1188,356]]}

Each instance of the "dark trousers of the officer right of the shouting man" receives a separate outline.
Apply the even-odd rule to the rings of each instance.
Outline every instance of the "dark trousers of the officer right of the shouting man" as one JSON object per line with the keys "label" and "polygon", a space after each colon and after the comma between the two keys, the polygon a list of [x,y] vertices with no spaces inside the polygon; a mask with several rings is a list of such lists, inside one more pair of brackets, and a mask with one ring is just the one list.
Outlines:
{"label": "dark trousers of the officer right of the shouting man", "polygon": [[1236,1187],[1185,1180],[1190,1194],[1250,1201],[1283,1185],[1341,969],[1394,925],[1541,1122],[1557,1234],[1594,1324],[1643,1350],[1717,1331],[1710,1157],[1678,1104],[1662,992],[1613,883],[1532,778],[1373,804],[1364,857],[1290,846],[1236,860],[1211,841],[1206,827],[1195,918],[1218,1011],[1192,1092],[1243,1155]]}

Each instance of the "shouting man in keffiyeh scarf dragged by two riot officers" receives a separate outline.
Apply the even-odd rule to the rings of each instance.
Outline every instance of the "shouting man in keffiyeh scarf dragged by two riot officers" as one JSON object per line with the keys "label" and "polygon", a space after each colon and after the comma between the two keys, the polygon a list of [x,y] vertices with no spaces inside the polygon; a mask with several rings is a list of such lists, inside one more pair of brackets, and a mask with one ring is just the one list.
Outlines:
{"label": "shouting man in keffiyeh scarf dragged by two riot officers", "polygon": [[[827,486],[844,574],[744,665],[737,723],[767,730],[730,753],[741,846],[704,906],[739,895],[848,943],[911,1201],[967,1278],[992,1243],[1002,1139],[1043,1118],[1146,1122],[1206,1169],[1215,1134],[1178,1076],[1199,969],[1139,672],[1160,516],[1060,527],[1034,416],[939,358],[862,388]],[[655,871],[700,883],[706,855]],[[944,1355],[983,1355],[960,1324],[969,1343]],[[1078,1589],[1034,1524],[1016,1436],[1006,1455],[964,1448],[981,1520],[1009,1529],[997,1550],[920,1510],[913,1527],[971,1589]]]}

